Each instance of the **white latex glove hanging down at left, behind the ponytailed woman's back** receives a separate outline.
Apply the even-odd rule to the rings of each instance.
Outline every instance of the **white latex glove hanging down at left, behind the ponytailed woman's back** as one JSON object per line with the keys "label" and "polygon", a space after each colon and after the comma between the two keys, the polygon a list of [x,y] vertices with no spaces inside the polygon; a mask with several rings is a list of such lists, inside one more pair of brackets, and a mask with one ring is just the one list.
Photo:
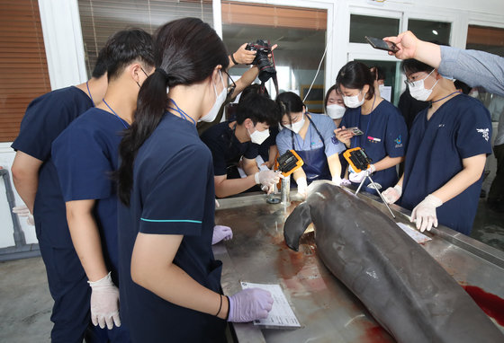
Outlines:
{"label": "white latex glove hanging down at left, behind the ponytailed woman's back", "polygon": [[111,273],[98,281],[87,281],[91,286],[91,321],[111,330],[113,325],[121,326],[119,318],[119,289],[113,284]]}

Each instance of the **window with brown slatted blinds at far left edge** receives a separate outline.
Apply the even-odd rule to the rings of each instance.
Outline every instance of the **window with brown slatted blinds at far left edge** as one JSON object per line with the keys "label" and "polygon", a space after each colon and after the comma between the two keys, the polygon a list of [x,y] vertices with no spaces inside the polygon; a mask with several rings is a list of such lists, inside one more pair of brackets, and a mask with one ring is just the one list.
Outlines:
{"label": "window with brown slatted blinds at far left edge", "polygon": [[37,0],[2,2],[0,22],[0,142],[11,142],[26,107],[50,82]]}

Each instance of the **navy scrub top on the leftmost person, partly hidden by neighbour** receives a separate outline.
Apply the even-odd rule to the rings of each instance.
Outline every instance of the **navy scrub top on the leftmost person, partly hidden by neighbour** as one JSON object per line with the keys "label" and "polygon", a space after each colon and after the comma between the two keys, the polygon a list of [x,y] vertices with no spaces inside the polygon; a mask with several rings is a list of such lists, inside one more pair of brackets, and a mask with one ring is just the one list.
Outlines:
{"label": "navy scrub top on the leftmost person, partly hidden by neighbour", "polygon": [[92,107],[93,101],[74,86],[48,92],[28,105],[19,136],[12,145],[14,150],[43,162],[33,216],[37,239],[52,247],[73,249],[65,202],[52,163],[51,145],[72,120]]}

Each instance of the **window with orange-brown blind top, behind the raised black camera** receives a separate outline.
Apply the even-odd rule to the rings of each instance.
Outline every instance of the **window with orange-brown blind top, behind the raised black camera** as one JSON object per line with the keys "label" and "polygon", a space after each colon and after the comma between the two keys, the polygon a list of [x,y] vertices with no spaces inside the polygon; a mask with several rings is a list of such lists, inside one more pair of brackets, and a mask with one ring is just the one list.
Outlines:
{"label": "window with orange-brown blind top, behind the raised black camera", "polygon": [[[279,92],[298,92],[302,98],[324,54],[326,25],[326,10],[222,1],[222,38],[229,53],[243,43],[256,40],[278,44],[274,57]],[[247,67],[231,70],[233,75],[242,75]],[[323,85],[324,63],[313,88],[323,88]],[[273,83],[268,82],[266,88],[275,99]],[[315,98],[310,96],[311,111],[323,110],[320,94]]]}

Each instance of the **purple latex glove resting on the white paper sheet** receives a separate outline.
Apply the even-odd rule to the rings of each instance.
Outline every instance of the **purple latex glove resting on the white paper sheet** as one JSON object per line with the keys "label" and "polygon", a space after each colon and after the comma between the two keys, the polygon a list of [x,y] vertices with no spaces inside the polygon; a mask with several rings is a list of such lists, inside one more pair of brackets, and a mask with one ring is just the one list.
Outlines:
{"label": "purple latex glove resting on the white paper sheet", "polygon": [[247,288],[229,296],[228,321],[247,322],[265,319],[272,307],[271,293],[260,288]]}

